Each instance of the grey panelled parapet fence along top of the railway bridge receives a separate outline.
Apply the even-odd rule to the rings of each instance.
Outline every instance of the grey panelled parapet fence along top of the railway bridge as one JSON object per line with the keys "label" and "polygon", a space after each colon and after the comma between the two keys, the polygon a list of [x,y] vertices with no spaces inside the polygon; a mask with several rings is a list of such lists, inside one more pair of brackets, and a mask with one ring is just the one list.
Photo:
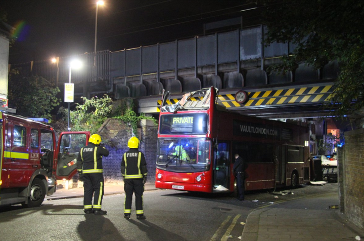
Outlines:
{"label": "grey panelled parapet fence along top of the railway bridge", "polygon": [[[75,95],[111,93],[115,99],[191,92],[214,86],[218,89],[267,87],[320,82],[335,79],[338,63],[315,70],[301,63],[285,75],[268,73],[266,67],[290,54],[291,43],[261,43],[264,27],[196,36],[174,42],[142,46],[116,52],[108,50],[79,56],[13,64],[22,75],[53,79],[58,86],[69,82],[69,62],[83,61],[81,70],[72,71]],[[63,88],[60,88],[63,90]]]}

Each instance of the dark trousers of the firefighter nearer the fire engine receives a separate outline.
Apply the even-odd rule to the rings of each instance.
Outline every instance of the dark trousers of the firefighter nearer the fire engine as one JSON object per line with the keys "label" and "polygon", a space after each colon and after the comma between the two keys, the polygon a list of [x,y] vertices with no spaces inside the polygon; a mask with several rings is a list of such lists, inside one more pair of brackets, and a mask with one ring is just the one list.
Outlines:
{"label": "dark trousers of the firefighter nearer the fire engine", "polygon": [[[94,195],[94,205],[92,199]],[[102,173],[83,174],[83,207],[84,209],[101,209],[104,196],[104,176]]]}

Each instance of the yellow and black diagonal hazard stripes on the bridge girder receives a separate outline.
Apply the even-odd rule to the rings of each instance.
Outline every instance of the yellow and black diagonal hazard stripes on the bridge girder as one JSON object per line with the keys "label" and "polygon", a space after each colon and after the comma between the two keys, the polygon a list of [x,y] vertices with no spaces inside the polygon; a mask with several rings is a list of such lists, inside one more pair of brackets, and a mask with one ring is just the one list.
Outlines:
{"label": "yellow and black diagonal hazard stripes on the bridge girder", "polygon": [[[218,103],[226,108],[230,107],[251,107],[262,105],[283,105],[300,103],[323,103],[331,98],[334,91],[333,85],[287,88],[278,90],[262,90],[248,92],[248,100],[245,103],[238,103],[235,100],[235,93],[218,96]],[[172,99],[167,104],[175,104],[179,99]],[[158,100],[158,106],[161,100]],[[157,107],[157,111],[160,108]]]}

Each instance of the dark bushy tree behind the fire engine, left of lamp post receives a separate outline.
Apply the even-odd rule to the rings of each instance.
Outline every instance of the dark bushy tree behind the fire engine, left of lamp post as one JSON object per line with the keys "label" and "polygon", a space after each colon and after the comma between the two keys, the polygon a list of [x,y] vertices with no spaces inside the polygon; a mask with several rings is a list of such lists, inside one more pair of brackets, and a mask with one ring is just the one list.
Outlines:
{"label": "dark bushy tree behind the fire engine, left of lamp post", "polygon": [[16,78],[17,71],[9,74],[9,107],[26,117],[52,119],[51,112],[60,104],[60,92],[53,82],[40,76]]}

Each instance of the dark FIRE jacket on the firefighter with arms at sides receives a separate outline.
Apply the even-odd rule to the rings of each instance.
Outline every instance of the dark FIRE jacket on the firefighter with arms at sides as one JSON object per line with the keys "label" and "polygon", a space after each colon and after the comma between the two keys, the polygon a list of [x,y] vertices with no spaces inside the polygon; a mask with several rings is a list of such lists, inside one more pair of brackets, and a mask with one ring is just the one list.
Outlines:
{"label": "dark FIRE jacket on the firefighter with arms at sides", "polygon": [[144,178],[148,174],[147,162],[143,152],[138,148],[130,148],[121,160],[121,175],[125,179]]}

